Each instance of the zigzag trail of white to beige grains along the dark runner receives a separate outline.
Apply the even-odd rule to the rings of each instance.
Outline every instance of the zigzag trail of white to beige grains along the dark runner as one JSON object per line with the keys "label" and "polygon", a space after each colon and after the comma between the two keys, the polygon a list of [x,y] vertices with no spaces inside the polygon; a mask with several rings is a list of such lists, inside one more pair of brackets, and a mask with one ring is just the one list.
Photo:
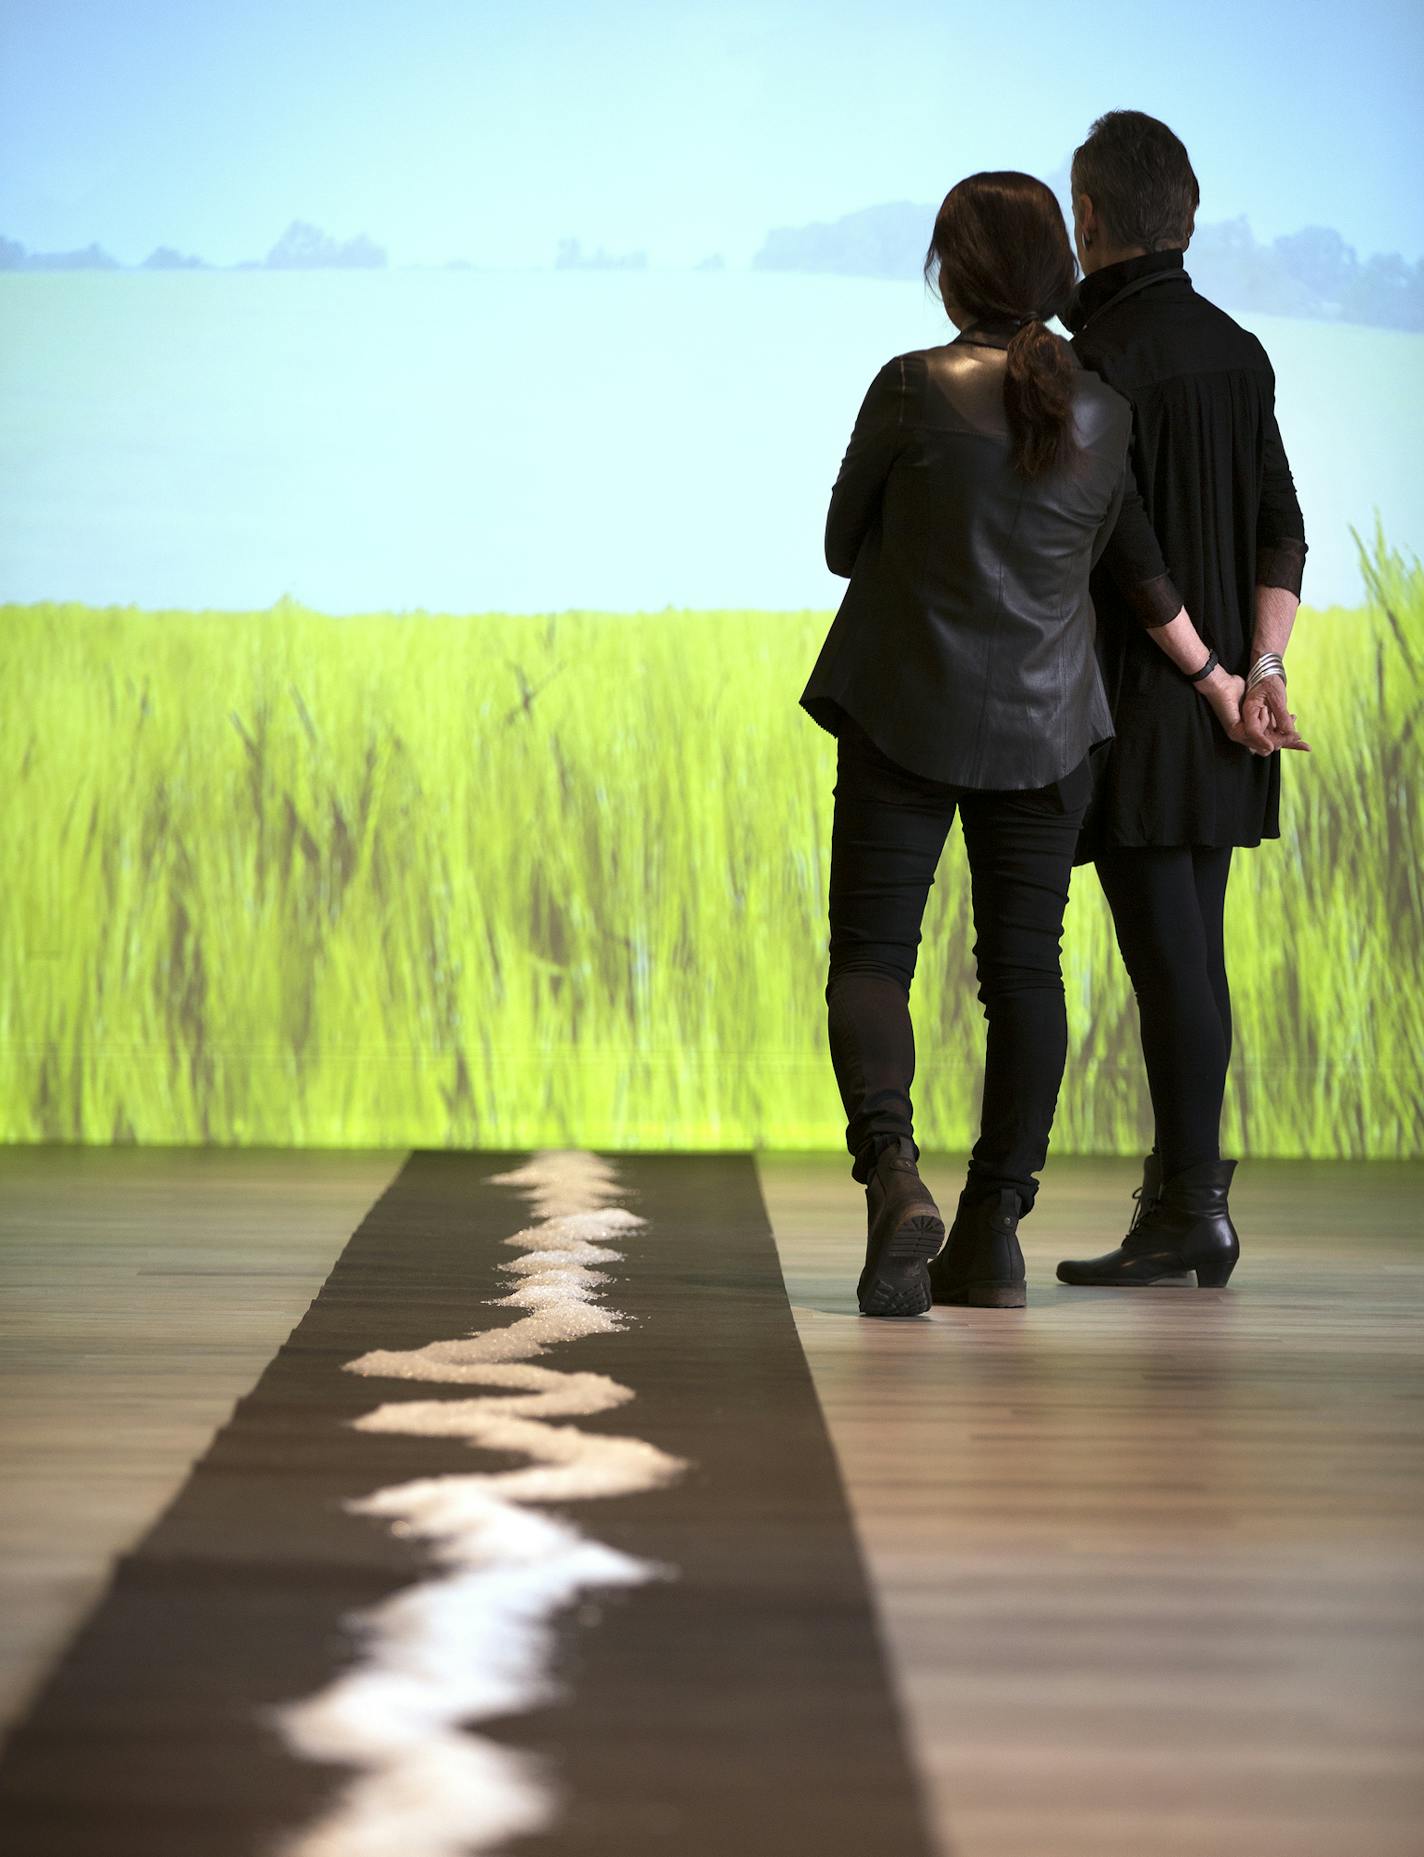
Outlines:
{"label": "zigzag trail of white to beige grains along the dark runner", "polygon": [[316,1695],[273,1712],[308,1760],[356,1768],[336,1805],[282,1846],[282,1857],[479,1857],[548,1829],[557,1788],[529,1757],[468,1725],[555,1694],[551,1619],[581,1591],[641,1586],[672,1569],[589,1539],[531,1502],[583,1502],[672,1482],[685,1463],[639,1437],[579,1432],[583,1419],[635,1395],[607,1374],[531,1365],[563,1341],[616,1333],[626,1318],[598,1296],[618,1261],[607,1244],[642,1220],[616,1196],[598,1155],[540,1153],[496,1185],[524,1188],[540,1222],[505,1242],[516,1287],[498,1307],[531,1313],[505,1326],[377,1348],[347,1372],[382,1380],[501,1387],[479,1398],[394,1400],[355,1421],[360,1432],[462,1437],[518,1452],[522,1469],[394,1484],[349,1502],[431,1547],[438,1575],[347,1619],[360,1658]]}

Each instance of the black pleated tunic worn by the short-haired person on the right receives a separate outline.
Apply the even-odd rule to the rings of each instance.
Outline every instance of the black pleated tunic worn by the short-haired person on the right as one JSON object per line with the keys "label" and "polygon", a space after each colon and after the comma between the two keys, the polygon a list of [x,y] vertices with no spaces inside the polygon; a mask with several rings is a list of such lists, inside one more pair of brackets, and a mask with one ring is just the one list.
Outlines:
{"label": "black pleated tunic worn by the short-haired person on the right", "polygon": [[1244,674],[1255,589],[1300,594],[1305,527],[1261,342],[1192,288],[1179,251],[1105,266],[1064,323],[1133,405],[1138,498],[1092,576],[1116,739],[1079,862],[1112,845],[1259,845],[1279,836],[1281,756],[1229,741],[1147,628],[1185,605]]}

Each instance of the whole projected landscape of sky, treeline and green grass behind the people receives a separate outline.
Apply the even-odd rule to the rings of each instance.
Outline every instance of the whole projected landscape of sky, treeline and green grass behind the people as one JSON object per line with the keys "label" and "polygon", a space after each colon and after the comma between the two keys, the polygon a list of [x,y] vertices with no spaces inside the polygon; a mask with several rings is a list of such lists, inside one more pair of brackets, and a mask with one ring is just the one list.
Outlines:
{"label": "whole projected landscape of sky, treeline and green grass behind the people", "polygon": [[[876,368],[952,334],[919,279],[943,189],[1023,165],[1068,206],[1068,150],[1129,100],[1194,152],[1186,267],[1266,344],[1311,542],[1316,752],[1233,888],[1231,1138],[1418,1151],[1424,219],[1368,150],[1233,130],[1249,46],[1223,74],[1205,20],[1170,97],[1140,33],[1108,93],[1051,46],[1021,126],[956,78],[949,136],[932,76],[971,28],[917,7],[772,9],[735,46],[691,9],[650,46],[626,7],[394,35],[356,6],[340,82],[310,7],[186,20],[162,71],[126,7],[82,11],[87,50],[43,63],[35,15],[0,78],[0,1135],[834,1146],[834,750],[796,709],[826,492]],[[1303,108],[1363,52],[1296,56]],[[847,147],[854,74],[912,67],[891,147]],[[210,123],[191,163],[119,91]],[[399,162],[377,104],[420,123]],[[926,1144],[973,1122],[971,938],[951,847]],[[1086,871],[1066,966],[1056,1142],[1134,1151]]]}

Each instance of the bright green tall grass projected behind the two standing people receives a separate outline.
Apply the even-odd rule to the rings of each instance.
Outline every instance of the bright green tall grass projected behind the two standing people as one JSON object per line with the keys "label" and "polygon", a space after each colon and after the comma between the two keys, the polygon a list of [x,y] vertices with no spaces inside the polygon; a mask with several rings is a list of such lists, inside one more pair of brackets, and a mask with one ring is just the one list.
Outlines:
{"label": "bright green tall grass projected behind the two standing people", "polygon": [[[1305,613],[1279,845],[1231,897],[1231,1149],[1420,1153],[1424,574]],[[837,1146],[821,613],[0,607],[0,1135]],[[982,1021],[958,832],[915,986],[930,1146]],[[1056,1144],[1140,1151],[1092,871]]]}

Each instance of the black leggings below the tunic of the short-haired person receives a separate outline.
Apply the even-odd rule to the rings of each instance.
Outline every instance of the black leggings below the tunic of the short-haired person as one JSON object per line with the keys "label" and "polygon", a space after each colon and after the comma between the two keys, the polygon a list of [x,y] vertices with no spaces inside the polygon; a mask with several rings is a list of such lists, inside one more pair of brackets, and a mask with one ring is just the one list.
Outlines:
{"label": "black leggings below the tunic of the short-haired person", "polygon": [[1097,858],[1133,992],[1166,1175],[1222,1157],[1231,1062],[1225,886],[1231,847],[1116,849]]}

